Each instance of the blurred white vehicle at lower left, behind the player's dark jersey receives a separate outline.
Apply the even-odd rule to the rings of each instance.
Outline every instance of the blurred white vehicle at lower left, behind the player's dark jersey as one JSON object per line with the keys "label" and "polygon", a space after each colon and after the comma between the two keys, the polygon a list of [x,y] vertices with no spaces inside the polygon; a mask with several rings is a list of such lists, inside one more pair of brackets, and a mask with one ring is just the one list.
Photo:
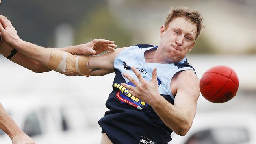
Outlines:
{"label": "blurred white vehicle at lower left, behind the player's dark jersey", "polygon": [[[15,96],[1,98],[0,102],[18,126],[37,144],[100,143],[101,129],[97,122],[104,110],[102,112],[93,107],[94,113],[88,114],[90,108],[75,97]],[[11,144],[9,137],[2,131],[0,144]]]}

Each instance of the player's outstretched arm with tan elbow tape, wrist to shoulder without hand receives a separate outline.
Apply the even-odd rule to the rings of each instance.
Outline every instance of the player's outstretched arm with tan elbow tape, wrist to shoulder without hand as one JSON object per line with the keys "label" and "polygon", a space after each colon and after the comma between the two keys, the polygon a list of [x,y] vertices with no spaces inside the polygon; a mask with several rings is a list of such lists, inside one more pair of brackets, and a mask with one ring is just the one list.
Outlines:
{"label": "player's outstretched arm with tan elbow tape, wrist to shoulder without hand", "polygon": [[[89,56],[82,55],[79,57],[79,60],[77,60],[78,56],[72,55],[70,53],[67,54],[67,58],[63,59],[63,52],[60,52],[58,50],[53,50],[52,48],[43,48],[41,46],[37,46],[35,44],[25,42],[25,41],[19,41],[19,44],[16,45],[17,50],[21,52],[22,54],[26,55],[27,57],[37,61],[38,63],[41,63],[44,66],[47,66],[48,68],[51,68],[52,70],[58,71],[62,74],[66,74],[67,76],[75,76],[75,75],[96,75],[101,76],[104,74],[108,74],[110,72],[113,72],[113,60],[115,59],[115,56],[122,50],[116,50],[115,52],[107,52],[104,55],[100,56],[91,56],[88,66],[91,68],[90,74],[84,74],[82,71],[86,70],[86,62]],[[83,66],[79,66],[80,60],[83,63]],[[62,66],[59,69],[59,66],[64,61],[65,66]],[[78,67],[79,70],[76,69],[76,62],[78,61]],[[52,63],[57,63],[52,66]],[[72,64],[71,64],[72,63]],[[96,69],[93,71],[93,69]],[[58,69],[58,70],[57,70]],[[65,71],[60,71],[60,70]],[[100,69],[100,70],[99,70]],[[99,70],[99,71],[97,71]],[[78,72],[80,71],[80,72]]]}

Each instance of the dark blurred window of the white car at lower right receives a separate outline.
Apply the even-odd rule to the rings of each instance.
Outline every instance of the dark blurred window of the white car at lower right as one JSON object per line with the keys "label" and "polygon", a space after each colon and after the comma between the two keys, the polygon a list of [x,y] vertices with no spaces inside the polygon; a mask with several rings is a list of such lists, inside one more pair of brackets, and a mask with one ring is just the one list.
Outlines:
{"label": "dark blurred window of the white car at lower right", "polygon": [[249,142],[246,128],[223,127],[194,133],[185,144],[241,144]]}

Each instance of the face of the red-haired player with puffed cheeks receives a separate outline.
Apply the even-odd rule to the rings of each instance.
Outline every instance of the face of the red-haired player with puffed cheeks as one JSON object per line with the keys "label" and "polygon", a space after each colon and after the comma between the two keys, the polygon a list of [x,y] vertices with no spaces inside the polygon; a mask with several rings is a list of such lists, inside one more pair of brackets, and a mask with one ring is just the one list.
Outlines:
{"label": "face of the red-haired player with puffed cheeks", "polygon": [[178,17],[169,23],[168,28],[161,27],[159,46],[163,49],[165,60],[173,63],[181,61],[195,45],[197,26]]}

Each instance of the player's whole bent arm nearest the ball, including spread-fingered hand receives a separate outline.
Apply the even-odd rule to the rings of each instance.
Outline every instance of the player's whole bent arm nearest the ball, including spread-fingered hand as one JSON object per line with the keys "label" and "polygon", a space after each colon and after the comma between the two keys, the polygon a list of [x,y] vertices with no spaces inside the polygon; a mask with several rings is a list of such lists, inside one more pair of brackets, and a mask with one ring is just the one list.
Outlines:
{"label": "player's whole bent arm nearest the ball, including spread-fingered hand", "polygon": [[[146,81],[141,73],[132,67],[139,82],[127,74],[123,74],[136,87],[122,83],[129,89],[130,94],[152,106],[163,122],[178,135],[186,135],[190,129],[200,94],[199,80],[192,70],[182,71],[172,79],[171,90],[175,93],[174,105],[163,98],[158,91],[156,68],[152,80]],[[186,81],[186,83],[184,83]],[[174,94],[174,95],[175,95]]]}

